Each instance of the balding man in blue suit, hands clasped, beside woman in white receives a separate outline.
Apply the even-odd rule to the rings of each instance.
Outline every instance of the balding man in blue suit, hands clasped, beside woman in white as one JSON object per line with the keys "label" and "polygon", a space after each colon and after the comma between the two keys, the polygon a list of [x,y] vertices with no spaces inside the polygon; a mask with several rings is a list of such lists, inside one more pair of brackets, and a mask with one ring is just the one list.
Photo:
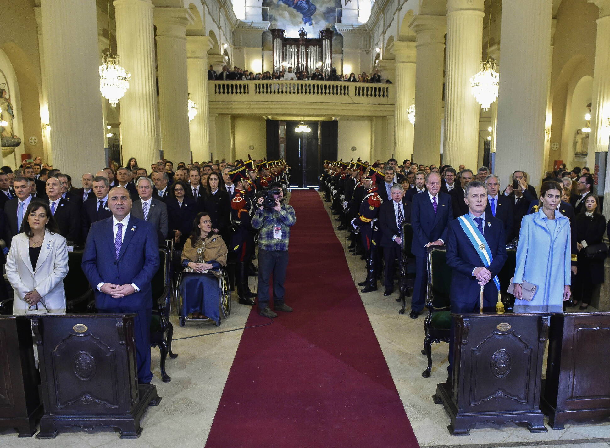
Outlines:
{"label": "balding man in blue suit, hands clasped, beside woman in white", "polygon": [[112,217],[94,222],[85,243],[82,270],[95,291],[99,313],[135,314],[138,381],[150,383],[151,280],[159,269],[159,242],[151,223],[132,217],[124,187],[108,193]]}

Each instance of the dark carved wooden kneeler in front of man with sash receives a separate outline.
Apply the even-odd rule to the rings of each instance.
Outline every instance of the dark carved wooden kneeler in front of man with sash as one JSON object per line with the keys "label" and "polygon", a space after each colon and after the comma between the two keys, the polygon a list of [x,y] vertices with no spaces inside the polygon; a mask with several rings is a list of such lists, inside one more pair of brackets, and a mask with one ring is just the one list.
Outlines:
{"label": "dark carved wooden kneeler in front of man with sash", "polygon": [[452,314],[456,332],[453,381],[440,383],[433,399],[451,418],[451,435],[476,424],[526,425],[547,432],[540,411],[542,357],[548,325],[558,309],[515,306],[515,313]]}

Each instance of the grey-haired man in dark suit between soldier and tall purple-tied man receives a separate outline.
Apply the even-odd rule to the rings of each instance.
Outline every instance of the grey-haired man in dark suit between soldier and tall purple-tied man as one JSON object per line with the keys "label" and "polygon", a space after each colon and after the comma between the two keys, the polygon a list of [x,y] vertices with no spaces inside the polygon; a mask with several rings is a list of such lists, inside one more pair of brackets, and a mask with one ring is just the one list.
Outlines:
{"label": "grey-haired man in dark suit between soldier and tall purple-tied man", "polygon": [[384,286],[386,297],[394,291],[394,273],[396,260],[400,262],[401,234],[405,223],[411,223],[411,203],[404,200],[404,188],[401,184],[394,184],[390,190],[390,200],[381,204],[379,208],[379,228],[381,229],[381,247],[386,262],[386,275]]}

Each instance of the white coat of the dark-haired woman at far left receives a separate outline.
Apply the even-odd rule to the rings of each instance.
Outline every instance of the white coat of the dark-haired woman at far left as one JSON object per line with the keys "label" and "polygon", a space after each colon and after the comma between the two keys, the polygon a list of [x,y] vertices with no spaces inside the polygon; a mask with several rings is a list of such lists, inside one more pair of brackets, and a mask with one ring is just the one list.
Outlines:
{"label": "white coat of the dark-haired woman at far left", "polygon": [[28,310],[29,305],[23,300],[27,292],[34,289],[42,297],[41,302],[48,308],[49,313],[65,314],[66,294],[63,279],[68,273],[68,247],[63,236],[45,231],[38,261],[36,266],[32,267],[29,238],[25,233],[15,235],[11,241],[5,269],[15,291],[13,314],[45,313],[45,308],[41,305],[38,305],[38,310]]}

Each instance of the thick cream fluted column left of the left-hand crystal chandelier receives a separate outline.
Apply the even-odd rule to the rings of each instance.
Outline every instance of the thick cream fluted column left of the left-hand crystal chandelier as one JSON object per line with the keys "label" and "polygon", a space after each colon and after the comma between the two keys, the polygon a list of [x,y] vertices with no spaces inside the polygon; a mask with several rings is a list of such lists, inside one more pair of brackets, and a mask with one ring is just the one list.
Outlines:
{"label": "thick cream fluted column left of the left-hand crystal chandelier", "polygon": [[78,185],[82,173],[106,165],[96,4],[42,0],[41,12],[52,163]]}

